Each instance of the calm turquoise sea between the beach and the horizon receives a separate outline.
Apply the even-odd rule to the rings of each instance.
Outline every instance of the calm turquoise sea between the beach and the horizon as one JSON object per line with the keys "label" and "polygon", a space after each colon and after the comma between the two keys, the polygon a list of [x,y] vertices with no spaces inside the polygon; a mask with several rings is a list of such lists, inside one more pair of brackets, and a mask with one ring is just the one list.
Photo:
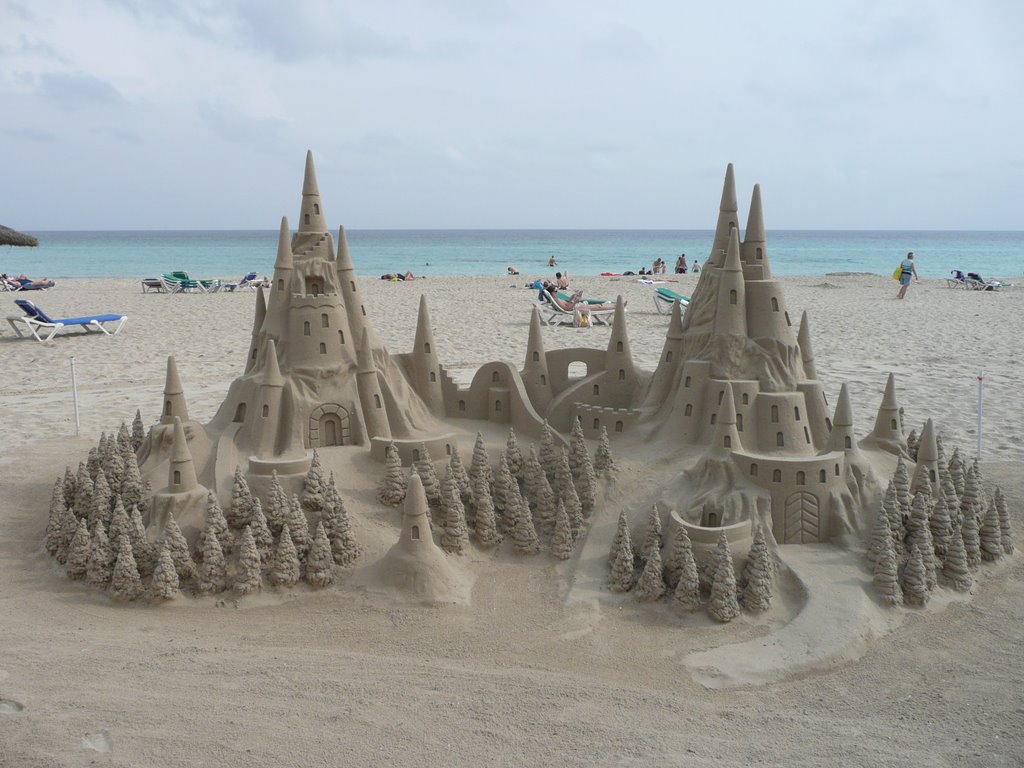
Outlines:
{"label": "calm turquoise sea between the beach and the horizon", "polygon": [[[37,231],[38,248],[0,248],[0,270],[32,278],[146,278],[183,269],[201,278],[239,278],[273,268],[278,230]],[[356,272],[415,274],[549,274],[548,258],[570,274],[639,271],[663,258],[671,270],[680,253],[701,263],[708,230],[389,229],[347,230]],[[985,278],[1024,275],[1022,231],[768,232],[776,274],[889,274],[913,251],[922,278],[950,269]]]}

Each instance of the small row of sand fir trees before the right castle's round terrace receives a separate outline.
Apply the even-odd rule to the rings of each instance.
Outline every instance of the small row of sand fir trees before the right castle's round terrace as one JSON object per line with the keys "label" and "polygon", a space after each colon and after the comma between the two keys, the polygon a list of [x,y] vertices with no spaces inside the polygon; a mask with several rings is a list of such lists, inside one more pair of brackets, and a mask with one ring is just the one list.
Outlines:
{"label": "small row of sand fir trees before the right castle's round terrace", "polygon": [[608,589],[632,591],[644,601],[660,600],[668,595],[677,610],[691,612],[705,607],[708,614],[719,622],[731,622],[739,615],[740,609],[759,613],[771,606],[775,562],[762,528],[754,535],[738,580],[724,530],[719,536],[714,556],[702,569],[693,558],[693,547],[685,527],[675,526],[668,554],[663,558],[665,544],[656,506],[647,517],[639,548],[633,546],[626,513],[621,513],[608,553]]}

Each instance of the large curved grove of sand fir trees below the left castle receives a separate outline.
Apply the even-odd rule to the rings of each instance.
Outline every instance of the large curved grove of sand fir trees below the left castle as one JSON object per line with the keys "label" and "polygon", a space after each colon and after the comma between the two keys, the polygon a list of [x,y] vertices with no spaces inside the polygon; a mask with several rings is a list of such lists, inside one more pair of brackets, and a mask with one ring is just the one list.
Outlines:
{"label": "large curved grove of sand fir trees below the left castle", "polygon": [[69,467],[54,484],[46,550],[70,578],[117,600],[169,600],[189,586],[200,594],[247,595],[258,592],[264,579],[276,587],[300,580],[327,587],[335,565],[350,565],[359,556],[334,475],[325,477],[315,452],[301,497],[289,499],[274,474],[264,511],[237,467],[226,513],[209,494],[195,549],[173,515],[151,541],[142,518],[152,493],[135,454],[142,434],[136,414],[131,432],[122,424],[117,435],[100,435],[77,474]]}

